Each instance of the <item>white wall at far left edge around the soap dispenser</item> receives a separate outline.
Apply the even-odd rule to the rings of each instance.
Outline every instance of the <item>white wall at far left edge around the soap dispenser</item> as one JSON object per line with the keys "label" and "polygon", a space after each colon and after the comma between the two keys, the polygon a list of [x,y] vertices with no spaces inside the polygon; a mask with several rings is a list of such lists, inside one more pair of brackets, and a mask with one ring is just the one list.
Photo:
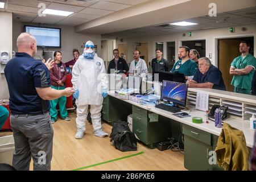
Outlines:
{"label": "white wall at far left edge around the soap dispenser", "polygon": [[[0,51],[8,51],[11,56],[13,49],[13,14],[0,12],[0,24],[2,25],[0,28]],[[0,69],[3,68],[4,67],[1,65]],[[9,98],[8,86],[4,73],[1,73],[0,75],[0,88],[0,99]]]}

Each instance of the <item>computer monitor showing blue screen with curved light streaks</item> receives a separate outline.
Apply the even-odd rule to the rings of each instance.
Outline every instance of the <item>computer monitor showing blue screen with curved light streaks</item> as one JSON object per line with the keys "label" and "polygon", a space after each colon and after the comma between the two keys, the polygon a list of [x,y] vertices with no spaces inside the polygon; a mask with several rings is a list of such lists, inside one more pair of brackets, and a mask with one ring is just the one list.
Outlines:
{"label": "computer monitor showing blue screen with curved light streaks", "polygon": [[187,100],[187,91],[187,84],[163,80],[161,100],[173,102],[174,105],[180,105],[185,107]]}

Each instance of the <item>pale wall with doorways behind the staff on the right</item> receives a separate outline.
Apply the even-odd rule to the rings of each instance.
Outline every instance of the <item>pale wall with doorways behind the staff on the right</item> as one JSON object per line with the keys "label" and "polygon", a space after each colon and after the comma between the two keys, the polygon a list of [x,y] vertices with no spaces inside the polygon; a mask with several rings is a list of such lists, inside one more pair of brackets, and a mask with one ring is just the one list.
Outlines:
{"label": "pale wall with doorways behind the staff on the right", "polygon": [[[246,27],[246,31],[241,31],[241,27]],[[206,56],[209,56],[209,53],[212,53],[212,64],[216,65],[216,39],[217,38],[232,38],[236,36],[254,36],[254,53],[256,53],[256,24],[246,24],[243,26],[235,27],[235,32],[230,33],[229,27],[223,28],[214,28],[209,30],[197,30],[192,31],[192,37],[188,37],[186,34],[185,37],[182,36],[183,33],[179,32],[175,34],[166,34],[159,36],[140,36],[136,38],[123,39],[123,42],[117,42],[117,44],[127,43],[129,60],[127,63],[130,63],[133,59],[133,51],[135,50],[135,43],[148,43],[148,60],[152,60],[155,57],[155,43],[164,42],[164,47],[166,42],[175,41],[176,42],[176,59],[179,46],[181,46],[181,41],[183,40],[200,40],[205,39],[206,42]],[[121,38],[118,38],[120,40]],[[166,53],[166,51],[164,51]],[[164,57],[166,58],[166,54]],[[254,55],[255,56],[255,55]]]}

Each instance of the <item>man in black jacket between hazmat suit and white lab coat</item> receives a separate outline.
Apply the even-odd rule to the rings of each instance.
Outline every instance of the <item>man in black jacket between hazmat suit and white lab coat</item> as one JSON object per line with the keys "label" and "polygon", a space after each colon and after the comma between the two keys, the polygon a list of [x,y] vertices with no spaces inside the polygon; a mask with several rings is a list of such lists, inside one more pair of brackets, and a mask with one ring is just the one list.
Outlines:
{"label": "man in black jacket between hazmat suit and white lab coat", "polygon": [[117,73],[125,73],[129,71],[129,67],[122,57],[119,57],[118,49],[113,50],[114,59],[109,62],[108,73],[111,73],[111,69],[117,71]]}

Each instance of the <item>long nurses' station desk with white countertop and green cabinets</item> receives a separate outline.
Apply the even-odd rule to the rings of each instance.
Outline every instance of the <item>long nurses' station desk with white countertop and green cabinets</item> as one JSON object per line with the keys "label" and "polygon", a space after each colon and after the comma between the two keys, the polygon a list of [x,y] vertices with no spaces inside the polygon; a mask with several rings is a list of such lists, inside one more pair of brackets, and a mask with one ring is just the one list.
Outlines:
{"label": "long nurses' station desk with white countertop and green cabinets", "polygon": [[[217,170],[217,164],[210,165],[210,151],[217,145],[221,128],[214,126],[214,121],[205,122],[205,112],[195,109],[195,98],[198,90],[209,93],[209,107],[213,104],[229,106],[228,117],[224,122],[245,135],[247,147],[254,144],[254,130],[250,129],[249,118],[256,113],[256,96],[227,92],[216,89],[188,88],[187,104],[191,117],[179,118],[162,109],[140,105],[137,102],[123,100],[109,91],[102,106],[102,119],[107,122],[127,121],[127,116],[133,114],[133,132],[138,139],[150,148],[167,138],[174,138],[183,146],[181,135],[184,134],[184,167],[189,170]],[[183,110],[189,113],[189,110]],[[158,122],[150,122],[148,114],[158,114]],[[203,123],[192,122],[192,117],[203,118]]]}

